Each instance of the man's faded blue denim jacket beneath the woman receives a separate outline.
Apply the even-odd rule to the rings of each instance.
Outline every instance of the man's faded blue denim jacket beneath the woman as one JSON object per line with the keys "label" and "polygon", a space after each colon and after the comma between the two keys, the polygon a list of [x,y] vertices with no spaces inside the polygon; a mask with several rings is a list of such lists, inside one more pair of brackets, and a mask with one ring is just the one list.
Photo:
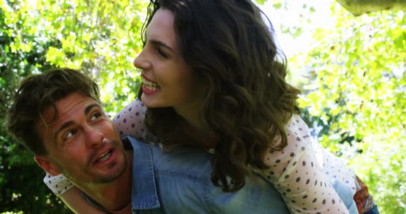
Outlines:
{"label": "man's faded blue denim jacket beneath the woman", "polygon": [[162,153],[158,145],[131,136],[123,143],[133,147],[133,213],[289,213],[281,195],[261,176],[246,178],[246,185],[232,193],[215,187],[211,154],[204,150]]}

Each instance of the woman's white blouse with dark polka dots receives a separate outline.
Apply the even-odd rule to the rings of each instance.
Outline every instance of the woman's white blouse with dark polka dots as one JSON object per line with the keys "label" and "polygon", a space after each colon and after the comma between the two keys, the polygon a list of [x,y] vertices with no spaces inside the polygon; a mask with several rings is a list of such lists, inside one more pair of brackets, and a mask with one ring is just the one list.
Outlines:
{"label": "woman's white blouse with dark polka dots", "polygon": [[[146,109],[136,99],[121,110],[114,118],[120,134],[153,142],[155,139],[143,124]],[[354,195],[354,172],[314,141],[308,126],[298,115],[294,115],[285,128],[287,147],[283,151],[269,150],[264,161],[270,169],[253,170],[275,185],[290,213],[348,213],[330,181],[339,180]],[[280,136],[275,140],[280,140]]]}

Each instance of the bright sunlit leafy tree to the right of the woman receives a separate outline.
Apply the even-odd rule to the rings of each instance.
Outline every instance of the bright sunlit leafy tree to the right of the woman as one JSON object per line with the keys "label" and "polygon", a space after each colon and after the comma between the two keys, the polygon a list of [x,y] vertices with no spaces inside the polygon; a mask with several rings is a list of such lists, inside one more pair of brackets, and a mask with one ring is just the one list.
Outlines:
{"label": "bright sunlit leafy tree to the right of the woman", "polygon": [[321,143],[350,160],[381,212],[405,213],[405,13],[332,11],[336,26],[315,31],[319,45],[299,64],[308,68],[300,107],[322,126]]}

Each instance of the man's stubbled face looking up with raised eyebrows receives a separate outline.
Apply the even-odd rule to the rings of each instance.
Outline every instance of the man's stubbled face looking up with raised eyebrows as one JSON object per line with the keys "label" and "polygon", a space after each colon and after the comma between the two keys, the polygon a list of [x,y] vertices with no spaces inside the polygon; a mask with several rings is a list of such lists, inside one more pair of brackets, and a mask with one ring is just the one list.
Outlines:
{"label": "man's stubbled face looking up with raised eyebrows", "polygon": [[[127,160],[114,123],[98,102],[72,93],[56,102],[58,117],[47,126],[37,121],[36,131],[48,152],[36,161],[48,173],[63,173],[76,185],[102,184],[120,177]],[[51,121],[53,108],[42,114]],[[42,159],[41,159],[42,158]]]}

